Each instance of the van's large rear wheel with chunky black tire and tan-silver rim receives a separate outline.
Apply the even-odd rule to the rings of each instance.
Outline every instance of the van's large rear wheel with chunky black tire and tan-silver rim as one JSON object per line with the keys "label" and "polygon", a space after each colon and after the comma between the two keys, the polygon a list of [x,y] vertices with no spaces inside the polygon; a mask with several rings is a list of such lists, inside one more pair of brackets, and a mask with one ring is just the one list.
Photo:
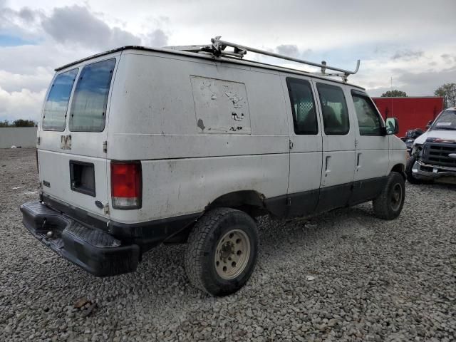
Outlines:
{"label": "van's large rear wheel with chunky black tire and tan-silver rim", "polygon": [[213,209],[193,227],[185,252],[190,282],[212,296],[226,296],[249,280],[257,261],[257,224],[245,212]]}

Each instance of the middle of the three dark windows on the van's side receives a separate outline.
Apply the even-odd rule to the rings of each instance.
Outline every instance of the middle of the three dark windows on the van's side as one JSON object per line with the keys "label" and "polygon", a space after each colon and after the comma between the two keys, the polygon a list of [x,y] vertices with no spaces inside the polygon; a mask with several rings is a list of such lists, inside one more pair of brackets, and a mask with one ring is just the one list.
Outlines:
{"label": "middle of the three dark windows on the van's side", "polygon": [[326,135],[346,135],[350,131],[350,120],[343,90],[337,86],[317,83],[323,125]]}

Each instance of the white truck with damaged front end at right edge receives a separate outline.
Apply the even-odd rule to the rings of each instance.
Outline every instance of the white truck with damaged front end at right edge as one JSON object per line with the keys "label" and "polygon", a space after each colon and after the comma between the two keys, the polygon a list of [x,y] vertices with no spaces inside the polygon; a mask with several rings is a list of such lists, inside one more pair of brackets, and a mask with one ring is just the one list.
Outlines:
{"label": "white truck with damaged front end at right edge", "polygon": [[429,130],[415,139],[406,173],[413,184],[455,182],[456,108],[443,110]]}

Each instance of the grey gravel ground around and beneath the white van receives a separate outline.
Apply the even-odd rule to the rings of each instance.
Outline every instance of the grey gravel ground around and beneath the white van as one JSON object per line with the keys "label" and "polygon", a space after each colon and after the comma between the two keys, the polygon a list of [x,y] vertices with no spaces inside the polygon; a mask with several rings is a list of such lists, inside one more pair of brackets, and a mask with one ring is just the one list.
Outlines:
{"label": "grey gravel ground around and beneath the white van", "polygon": [[[259,220],[260,254],[241,291],[190,286],[184,247],[98,279],[21,224],[37,198],[35,150],[0,150],[0,341],[454,341],[456,187],[407,184],[400,217],[371,204],[311,221]],[[88,316],[74,309],[86,297]]]}

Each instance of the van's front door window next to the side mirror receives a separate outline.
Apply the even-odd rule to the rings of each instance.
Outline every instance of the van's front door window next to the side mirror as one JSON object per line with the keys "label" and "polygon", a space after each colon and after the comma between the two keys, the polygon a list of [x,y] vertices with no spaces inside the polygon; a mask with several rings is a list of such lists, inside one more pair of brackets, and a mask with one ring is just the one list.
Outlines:
{"label": "van's front door window next to the side mirror", "polygon": [[356,116],[358,117],[359,134],[383,135],[382,121],[372,100],[356,90],[351,90],[351,96],[355,105]]}

